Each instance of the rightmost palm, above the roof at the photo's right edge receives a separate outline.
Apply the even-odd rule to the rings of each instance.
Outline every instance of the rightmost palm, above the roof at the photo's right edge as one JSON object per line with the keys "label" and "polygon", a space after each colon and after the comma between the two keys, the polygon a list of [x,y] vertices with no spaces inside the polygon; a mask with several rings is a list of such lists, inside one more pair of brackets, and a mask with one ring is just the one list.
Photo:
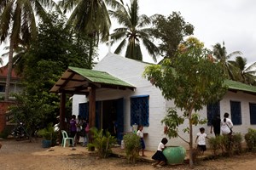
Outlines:
{"label": "rightmost palm, above the roof at the photo's right edge", "polygon": [[240,82],[255,85],[256,84],[256,62],[254,62],[252,65],[247,65],[247,59],[242,58],[241,56],[236,57],[236,61],[234,61],[234,65],[236,65],[237,68],[239,68],[239,76],[240,76]]}

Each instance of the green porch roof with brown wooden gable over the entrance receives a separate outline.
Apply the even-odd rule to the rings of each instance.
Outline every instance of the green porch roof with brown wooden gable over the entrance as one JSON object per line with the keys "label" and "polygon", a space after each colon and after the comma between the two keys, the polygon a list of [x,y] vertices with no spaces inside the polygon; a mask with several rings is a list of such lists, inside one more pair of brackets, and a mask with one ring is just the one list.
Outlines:
{"label": "green porch roof with brown wooden gable over the entrance", "polygon": [[67,94],[86,94],[89,87],[95,88],[114,88],[131,89],[135,87],[117,77],[113,77],[104,71],[93,71],[78,67],[68,67],[61,78],[50,89],[50,92],[60,93],[65,91]]}

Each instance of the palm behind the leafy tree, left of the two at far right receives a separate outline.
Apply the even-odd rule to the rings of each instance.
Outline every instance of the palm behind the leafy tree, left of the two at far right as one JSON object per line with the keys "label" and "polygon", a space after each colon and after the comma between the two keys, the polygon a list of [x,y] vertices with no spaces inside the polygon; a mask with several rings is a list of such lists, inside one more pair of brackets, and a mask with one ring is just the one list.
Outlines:
{"label": "palm behind the leafy tree, left of the two at far right", "polygon": [[224,76],[230,78],[231,80],[236,80],[236,73],[238,72],[235,65],[232,64],[232,61],[228,60],[235,55],[240,55],[240,51],[235,51],[230,54],[227,54],[226,48],[220,43],[216,43],[213,46],[213,56],[223,65]]}

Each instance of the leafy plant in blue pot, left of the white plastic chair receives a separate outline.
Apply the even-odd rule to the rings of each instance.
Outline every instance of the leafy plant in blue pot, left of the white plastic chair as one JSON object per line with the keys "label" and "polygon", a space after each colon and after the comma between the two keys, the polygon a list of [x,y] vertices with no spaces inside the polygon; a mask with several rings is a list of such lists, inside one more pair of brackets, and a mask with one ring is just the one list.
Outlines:
{"label": "leafy plant in blue pot, left of the white plastic chair", "polygon": [[52,139],[54,135],[54,127],[52,123],[49,123],[47,127],[40,129],[38,135],[43,137],[42,146],[43,148],[49,148],[52,144]]}

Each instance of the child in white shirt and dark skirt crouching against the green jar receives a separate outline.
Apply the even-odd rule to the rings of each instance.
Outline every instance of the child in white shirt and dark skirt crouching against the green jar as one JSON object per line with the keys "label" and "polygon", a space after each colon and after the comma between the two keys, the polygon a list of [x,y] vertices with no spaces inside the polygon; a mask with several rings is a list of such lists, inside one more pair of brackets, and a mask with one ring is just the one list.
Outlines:
{"label": "child in white shirt and dark skirt crouching against the green jar", "polygon": [[163,154],[163,150],[166,148],[168,140],[163,138],[158,144],[157,151],[152,156],[152,159],[156,160],[157,162],[153,163],[153,167],[161,167],[162,165],[166,164],[166,156]]}

